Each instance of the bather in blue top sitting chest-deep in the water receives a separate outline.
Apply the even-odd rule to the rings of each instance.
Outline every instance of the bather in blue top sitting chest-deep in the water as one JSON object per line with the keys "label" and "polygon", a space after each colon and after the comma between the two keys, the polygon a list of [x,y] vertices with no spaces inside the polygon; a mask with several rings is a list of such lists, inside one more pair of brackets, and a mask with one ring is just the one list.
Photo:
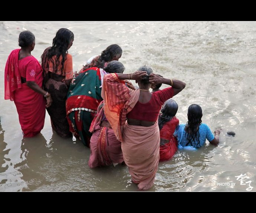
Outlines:
{"label": "bather in blue top sitting chest-deep in the water", "polygon": [[178,149],[196,150],[206,142],[206,139],[215,146],[219,144],[220,129],[211,133],[210,128],[202,123],[202,108],[197,104],[188,107],[188,122],[176,127],[174,136],[177,137]]}

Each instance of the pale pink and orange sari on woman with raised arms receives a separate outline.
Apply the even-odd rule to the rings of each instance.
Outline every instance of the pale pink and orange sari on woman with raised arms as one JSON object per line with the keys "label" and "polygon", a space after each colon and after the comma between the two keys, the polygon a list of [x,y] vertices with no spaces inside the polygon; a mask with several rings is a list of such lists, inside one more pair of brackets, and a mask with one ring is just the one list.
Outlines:
{"label": "pale pink and orange sari on woman with raised arms", "polygon": [[154,184],[159,162],[158,122],[150,127],[126,123],[126,114],[137,103],[140,90],[131,90],[123,82],[115,73],[105,75],[101,94],[105,101],[104,112],[115,136],[122,142],[124,161],[132,181],[138,184],[139,190],[146,190]]}

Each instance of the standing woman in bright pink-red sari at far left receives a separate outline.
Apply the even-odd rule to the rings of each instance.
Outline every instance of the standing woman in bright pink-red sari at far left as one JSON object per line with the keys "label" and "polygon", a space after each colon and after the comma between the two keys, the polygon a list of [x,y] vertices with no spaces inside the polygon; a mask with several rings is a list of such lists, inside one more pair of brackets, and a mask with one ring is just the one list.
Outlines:
{"label": "standing woman in bright pink-red sari at far left", "polygon": [[35,48],[34,34],[30,31],[21,32],[19,46],[21,49],[13,50],[6,62],[4,99],[14,101],[24,137],[33,137],[43,129],[45,106],[50,107],[52,99],[42,89],[42,67],[31,55]]}

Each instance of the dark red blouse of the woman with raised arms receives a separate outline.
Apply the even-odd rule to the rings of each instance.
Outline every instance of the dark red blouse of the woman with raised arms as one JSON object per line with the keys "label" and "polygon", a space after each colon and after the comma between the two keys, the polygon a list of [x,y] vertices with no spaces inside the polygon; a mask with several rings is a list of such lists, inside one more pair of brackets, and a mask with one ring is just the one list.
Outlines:
{"label": "dark red blouse of the woman with raised arms", "polygon": [[152,93],[150,101],[147,103],[140,103],[138,101],[131,112],[127,114],[127,118],[155,122],[158,119],[162,105],[166,100],[173,97],[173,94],[173,87]]}

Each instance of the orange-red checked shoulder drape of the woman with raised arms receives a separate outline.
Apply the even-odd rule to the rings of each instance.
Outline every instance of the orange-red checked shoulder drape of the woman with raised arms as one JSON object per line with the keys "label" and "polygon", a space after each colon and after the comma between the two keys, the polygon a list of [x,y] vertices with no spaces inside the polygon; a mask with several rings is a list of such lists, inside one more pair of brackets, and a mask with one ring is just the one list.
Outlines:
{"label": "orange-red checked shoulder drape of the woman with raised arms", "polygon": [[106,74],[102,85],[101,96],[104,99],[104,113],[116,138],[122,142],[122,131],[126,114],[131,112],[139,100],[140,90],[132,90],[118,79],[116,73]]}

